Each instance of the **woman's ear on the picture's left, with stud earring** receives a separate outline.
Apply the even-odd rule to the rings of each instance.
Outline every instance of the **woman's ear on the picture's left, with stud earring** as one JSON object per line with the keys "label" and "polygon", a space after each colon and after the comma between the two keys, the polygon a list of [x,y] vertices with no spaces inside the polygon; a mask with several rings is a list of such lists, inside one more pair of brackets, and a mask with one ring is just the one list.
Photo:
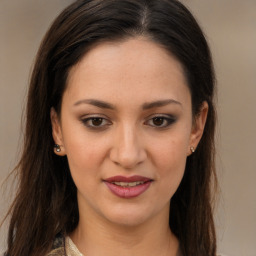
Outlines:
{"label": "woman's ear on the picture's left, with stud earring", "polygon": [[54,153],[59,156],[66,155],[63,145],[62,130],[59,117],[54,108],[51,108],[52,137],[55,142]]}

